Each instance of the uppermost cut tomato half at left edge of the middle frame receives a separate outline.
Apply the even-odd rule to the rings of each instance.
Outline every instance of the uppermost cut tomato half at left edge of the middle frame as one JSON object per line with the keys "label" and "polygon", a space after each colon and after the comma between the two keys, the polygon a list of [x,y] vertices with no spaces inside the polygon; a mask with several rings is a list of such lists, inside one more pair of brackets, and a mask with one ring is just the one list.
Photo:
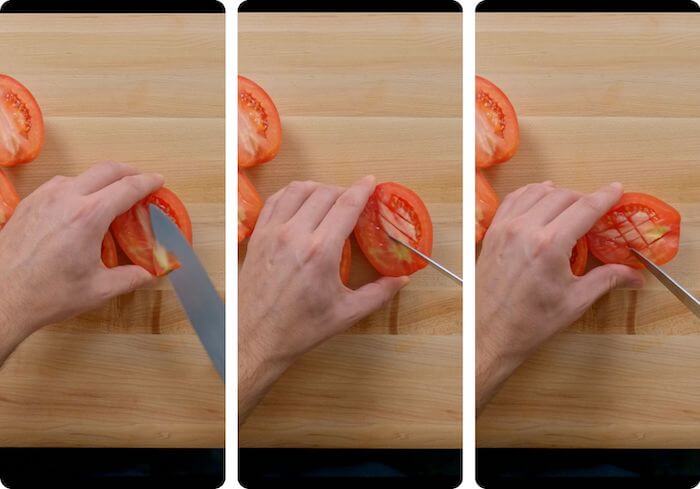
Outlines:
{"label": "uppermost cut tomato half at left edge of the middle frame", "polygon": [[270,161],[282,143],[282,124],[270,96],[255,82],[238,77],[238,166]]}

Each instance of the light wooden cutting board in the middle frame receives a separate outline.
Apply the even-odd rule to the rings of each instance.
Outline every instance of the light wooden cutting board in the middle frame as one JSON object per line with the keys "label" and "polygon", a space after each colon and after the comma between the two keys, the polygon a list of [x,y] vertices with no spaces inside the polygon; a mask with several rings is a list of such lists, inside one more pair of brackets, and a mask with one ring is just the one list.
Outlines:
{"label": "light wooden cutting board in the middle frame", "polygon": [[[433,256],[461,273],[460,15],[241,14],[239,72],[282,118],[278,157],[249,172],[263,197],[292,180],[403,183],[430,211]],[[352,256],[353,285],[376,277]],[[241,446],[458,447],[461,306],[449,279],[416,273],[289,370]]]}

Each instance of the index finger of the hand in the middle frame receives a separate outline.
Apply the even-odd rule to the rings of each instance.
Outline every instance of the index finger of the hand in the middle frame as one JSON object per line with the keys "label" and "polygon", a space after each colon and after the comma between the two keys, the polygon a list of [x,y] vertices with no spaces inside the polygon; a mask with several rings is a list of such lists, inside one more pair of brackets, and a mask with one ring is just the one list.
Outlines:
{"label": "index finger of the hand in the middle frame", "polygon": [[[355,182],[335,201],[333,207],[323,218],[316,232],[328,239],[342,243],[357,224],[357,219],[367,205],[367,199],[374,192],[376,181],[368,175]],[[340,248],[338,248],[340,249]]]}

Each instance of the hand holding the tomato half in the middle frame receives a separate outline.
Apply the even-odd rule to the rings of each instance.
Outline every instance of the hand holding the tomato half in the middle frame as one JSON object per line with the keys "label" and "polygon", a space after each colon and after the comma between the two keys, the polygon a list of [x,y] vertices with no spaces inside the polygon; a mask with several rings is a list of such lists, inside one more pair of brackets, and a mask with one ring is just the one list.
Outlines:
{"label": "hand holding the tomato half in the middle frame", "polygon": [[238,278],[241,420],[294,360],[408,283],[382,277],[351,290],[340,280],[343,243],[374,186],[293,182],[265,203]]}

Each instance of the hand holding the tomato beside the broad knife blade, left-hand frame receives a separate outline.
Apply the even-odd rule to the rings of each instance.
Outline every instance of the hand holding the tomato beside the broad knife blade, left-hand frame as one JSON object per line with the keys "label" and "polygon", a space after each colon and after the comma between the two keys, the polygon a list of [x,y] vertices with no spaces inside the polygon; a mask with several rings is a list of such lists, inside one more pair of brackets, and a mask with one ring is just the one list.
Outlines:
{"label": "hand holding the tomato beside the broad knife blade, left-hand frame", "polygon": [[101,246],[112,220],[162,185],[160,175],[100,163],[19,203],[0,232],[0,362],[38,328],[154,280],[136,265],[105,267]]}

